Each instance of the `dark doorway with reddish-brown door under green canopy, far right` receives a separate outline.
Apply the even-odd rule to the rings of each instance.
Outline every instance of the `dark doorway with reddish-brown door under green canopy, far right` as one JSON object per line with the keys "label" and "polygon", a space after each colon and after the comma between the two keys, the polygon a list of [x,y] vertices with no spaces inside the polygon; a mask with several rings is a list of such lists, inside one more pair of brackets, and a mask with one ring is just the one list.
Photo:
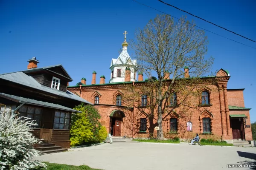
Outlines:
{"label": "dark doorway with reddish-brown door under green canopy, far right", "polygon": [[243,119],[232,119],[232,135],[233,139],[244,139],[243,137]]}

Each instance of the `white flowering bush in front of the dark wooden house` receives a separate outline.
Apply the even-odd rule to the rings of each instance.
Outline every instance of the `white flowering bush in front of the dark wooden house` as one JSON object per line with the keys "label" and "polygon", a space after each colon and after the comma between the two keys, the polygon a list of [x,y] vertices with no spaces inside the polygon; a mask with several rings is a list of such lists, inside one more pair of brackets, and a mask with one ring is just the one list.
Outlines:
{"label": "white flowering bush in front of the dark wooden house", "polygon": [[0,112],[0,170],[28,170],[36,166],[47,169],[46,164],[32,160],[41,155],[33,147],[39,142],[31,133],[35,125],[29,118]]}

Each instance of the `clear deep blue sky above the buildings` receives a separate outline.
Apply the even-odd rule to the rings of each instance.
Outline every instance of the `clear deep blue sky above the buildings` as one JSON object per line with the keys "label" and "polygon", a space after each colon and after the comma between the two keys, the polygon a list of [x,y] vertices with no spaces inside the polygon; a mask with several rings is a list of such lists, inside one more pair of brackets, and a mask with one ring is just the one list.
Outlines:
{"label": "clear deep blue sky above the buildings", "polygon": [[[157,0],[138,1],[174,17],[186,15],[197,26],[256,48],[255,42]],[[256,40],[255,0],[165,1]],[[127,40],[133,39],[135,29],[143,28],[156,14],[160,12],[132,0],[0,0],[0,73],[26,70],[27,60],[36,57],[38,67],[62,64],[74,80],[70,85],[81,77],[90,83],[93,70],[97,72],[96,82],[101,75],[108,82],[111,59],[119,55],[123,31],[128,31]],[[215,58],[212,71],[228,70],[228,88],[245,88],[245,107],[252,108],[251,121],[256,121],[256,49],[206,34],[207,56]]]}

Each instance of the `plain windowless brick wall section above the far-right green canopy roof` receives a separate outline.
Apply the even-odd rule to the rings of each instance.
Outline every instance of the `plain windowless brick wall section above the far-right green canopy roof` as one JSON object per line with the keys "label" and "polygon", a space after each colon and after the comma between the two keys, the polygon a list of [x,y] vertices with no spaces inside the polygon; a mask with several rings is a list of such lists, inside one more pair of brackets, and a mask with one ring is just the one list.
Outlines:
{"label": "plain windowless brick wall section above the far-right green canopy roof", "polygon": [[244,107],[244,94],[242,90],[227,90],[228,105]]}

